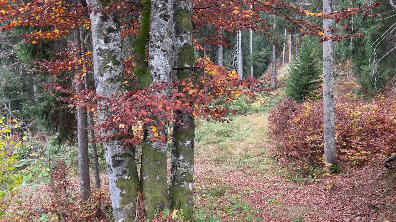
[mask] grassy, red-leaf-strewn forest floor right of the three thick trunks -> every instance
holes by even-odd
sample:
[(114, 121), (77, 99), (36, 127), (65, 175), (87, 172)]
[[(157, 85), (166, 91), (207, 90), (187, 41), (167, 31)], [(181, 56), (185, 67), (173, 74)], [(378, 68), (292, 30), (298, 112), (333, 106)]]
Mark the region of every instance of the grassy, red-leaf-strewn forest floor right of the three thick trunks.
[(376, 166), (318, 179), (292, 176), (293, 167), (281, 163), (268, 137), (267, 113), (235, 117), (231, 123), (202, 121), (196, 134), (197, 216), (215, 215), (220, 221), (396, 221), (396, 202), (386, 198), (394, 196), (386, 186), (392, 177), (378, 179)]

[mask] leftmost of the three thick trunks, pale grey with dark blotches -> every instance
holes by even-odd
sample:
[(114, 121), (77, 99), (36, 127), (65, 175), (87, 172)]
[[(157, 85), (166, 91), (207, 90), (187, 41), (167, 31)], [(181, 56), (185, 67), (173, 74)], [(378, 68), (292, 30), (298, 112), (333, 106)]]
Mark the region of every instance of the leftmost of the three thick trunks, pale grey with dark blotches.
[[(95, 9), (102, 11), (108, 2), (89, 0)], [(120, 23), (112, 13), (90, 13), (93, 46), (93, 70), (96, 92), (99, 96), (112, 96), (121, 87), (124, 69), (122, 66), (122, 49)], [(109, 119), (111, 112), (106, 101), (98, 102), (99, 123)], [(101, 131), (102, 137), (112, 136), (117, 129)], [(133, 149), (120, 147), (119, 139), (107, 139), (104, 143), (109, 176), (109, 190), (114, 220), (133, 221), (136, 213), (139, 177)]]

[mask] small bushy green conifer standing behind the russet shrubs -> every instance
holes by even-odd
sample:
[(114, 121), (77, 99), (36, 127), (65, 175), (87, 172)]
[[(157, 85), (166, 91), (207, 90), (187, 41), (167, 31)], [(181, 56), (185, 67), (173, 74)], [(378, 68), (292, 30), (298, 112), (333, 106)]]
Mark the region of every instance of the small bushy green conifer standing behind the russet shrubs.
[(321, 66), (312, 44), (307, 43), (301, 49), (289, 67), (286, 79), (286, 95), (297, 102), (303, 102), (311, 92), (318, 88)]

